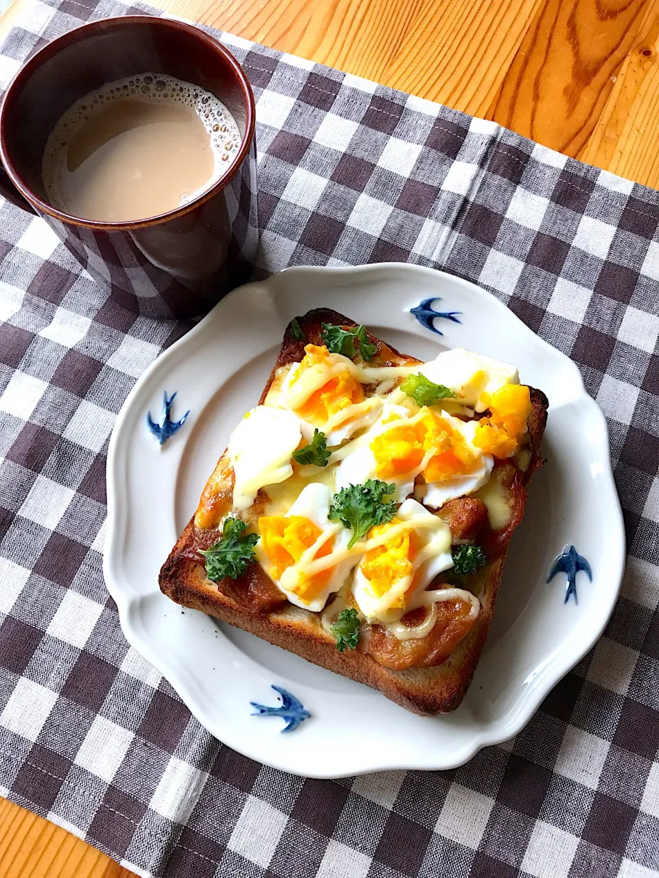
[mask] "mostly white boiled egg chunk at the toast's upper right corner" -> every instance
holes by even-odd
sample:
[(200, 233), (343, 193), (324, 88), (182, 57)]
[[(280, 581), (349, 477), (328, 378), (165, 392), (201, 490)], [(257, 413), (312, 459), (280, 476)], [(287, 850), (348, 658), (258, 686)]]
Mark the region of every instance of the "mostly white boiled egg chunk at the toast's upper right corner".
[(449, 387), (461, 403), (477, 412), (488, 407), (485, 394), (491, 396), (504, 385), (519, 384), (515, 366), (464, 348), (444, 350), (418, 371), (435, 384)]

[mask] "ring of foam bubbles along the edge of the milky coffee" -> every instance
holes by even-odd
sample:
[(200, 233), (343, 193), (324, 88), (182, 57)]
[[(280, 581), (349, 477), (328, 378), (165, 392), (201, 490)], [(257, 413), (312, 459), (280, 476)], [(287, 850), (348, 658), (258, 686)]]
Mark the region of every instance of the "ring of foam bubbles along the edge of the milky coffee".
[(47, 198), (52, 205), (66, 210), (60, 191), (58, 169), (72, 135), (84, 122), (93, 119), (108, 105), (127, 98), (142, 100), (148, 104), (182, 104), (190, 107), (206, 128), (214, 155), (214, 173), (201, 188), (183, 196), (181, 205), (207, 191), (234, 162), (242, 141), (241, 133), (227, 107), (214, 94), (192, 83), (185, 83), (175, 76), (156, 73), (126, 76), (106, 83), (76, 101), (48, 136), (42, 160), (42, 177)]

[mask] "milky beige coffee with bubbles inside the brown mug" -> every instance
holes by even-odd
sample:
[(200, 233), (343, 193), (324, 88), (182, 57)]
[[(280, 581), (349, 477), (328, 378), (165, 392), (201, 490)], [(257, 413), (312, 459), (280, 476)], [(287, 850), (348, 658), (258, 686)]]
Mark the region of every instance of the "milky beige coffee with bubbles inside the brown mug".
[(47, 140), (43, 184), (50, 204), (73, 216), (146, 219), (208, 189), (240, 141), (208, 91), (173, 76), (127, 76), (64, 113)]

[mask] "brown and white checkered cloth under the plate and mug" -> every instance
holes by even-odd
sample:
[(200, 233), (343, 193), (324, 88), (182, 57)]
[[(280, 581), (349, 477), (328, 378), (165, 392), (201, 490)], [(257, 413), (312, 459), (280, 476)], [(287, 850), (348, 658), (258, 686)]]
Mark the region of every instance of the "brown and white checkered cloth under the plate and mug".
[[(5, 83), (101, 0), (25, 0)], [(101, 572), (105, 450), (185, 326), (104, 298), (0, 208), (0, 792), (144, 875), (659, 873), (659, 193), (225, 34), (257, 96), (257, 276), (402, 260), (493, 291), (604, 409), (629, 558), (605, 636), (517, 738), (451, 772), (310, 781), (245, 759), (130, 649)], [(413, 746), (413, 742), (405, 745)]]

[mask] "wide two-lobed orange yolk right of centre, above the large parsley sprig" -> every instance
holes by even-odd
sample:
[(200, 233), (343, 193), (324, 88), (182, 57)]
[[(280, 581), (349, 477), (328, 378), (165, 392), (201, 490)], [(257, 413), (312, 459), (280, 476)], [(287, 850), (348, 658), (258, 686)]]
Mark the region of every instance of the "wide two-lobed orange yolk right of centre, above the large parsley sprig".
[(378, 478), (392, 479), (415, 471), (424, 459), (426, 482), (445, 481), (474, 471), (478, 457), (460, 431), (429, 408), (419, 414), (412, 423), (403, 421), (373, 439), (371, 450)]

